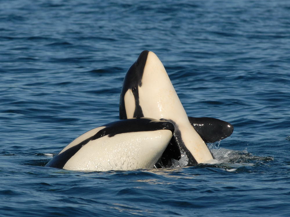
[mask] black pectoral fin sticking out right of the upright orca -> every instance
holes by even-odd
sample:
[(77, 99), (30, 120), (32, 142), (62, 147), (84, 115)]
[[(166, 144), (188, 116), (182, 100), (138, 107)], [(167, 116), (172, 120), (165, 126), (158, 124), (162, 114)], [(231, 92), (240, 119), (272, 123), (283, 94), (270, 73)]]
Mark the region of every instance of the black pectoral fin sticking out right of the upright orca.
[(212, 143), (229, 137), (233, 125), (213, 117), (188, 117), (189, 122), (206, 143)]

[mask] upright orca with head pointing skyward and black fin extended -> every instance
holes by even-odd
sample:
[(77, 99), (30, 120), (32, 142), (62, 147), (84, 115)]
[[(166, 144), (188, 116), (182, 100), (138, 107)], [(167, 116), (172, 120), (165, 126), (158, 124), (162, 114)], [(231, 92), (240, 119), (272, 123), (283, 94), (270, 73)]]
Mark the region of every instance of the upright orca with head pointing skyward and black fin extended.
[(175, 132), (161, 158), (168, 167), (171, 159), (179, 160), (181, 155), (188, 158), (187, 165), (211, 161), (213, 155), (205, 142), (224, 139), (233, 132), (228, 122), (188, 117), (162, 62), (148, 50), (139, 55), (123, 81), (119, 118), (133, 117), (151, 117), (174, 124)]

